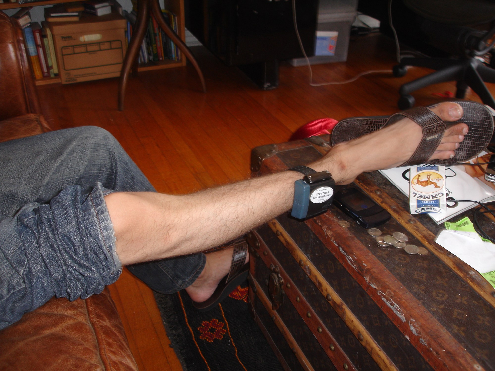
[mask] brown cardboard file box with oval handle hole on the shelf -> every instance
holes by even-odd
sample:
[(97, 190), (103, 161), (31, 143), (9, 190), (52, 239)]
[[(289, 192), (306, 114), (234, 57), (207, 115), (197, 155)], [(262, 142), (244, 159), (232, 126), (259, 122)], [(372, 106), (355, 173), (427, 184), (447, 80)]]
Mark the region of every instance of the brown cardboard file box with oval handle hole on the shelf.
[(83, 13), (79, 21), (49, 22), (62, 84), (120, 76), (126, 25), (115, 13)]

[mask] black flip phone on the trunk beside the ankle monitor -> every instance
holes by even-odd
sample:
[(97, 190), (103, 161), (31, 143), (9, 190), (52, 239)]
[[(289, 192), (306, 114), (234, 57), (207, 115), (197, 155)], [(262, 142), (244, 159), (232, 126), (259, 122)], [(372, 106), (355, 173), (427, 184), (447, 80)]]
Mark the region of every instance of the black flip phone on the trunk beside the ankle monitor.
[(391, 218), (387, 210), (354, 187), (337, 191), (334, 196), (334, 205), (364, 228), (379, 226)]

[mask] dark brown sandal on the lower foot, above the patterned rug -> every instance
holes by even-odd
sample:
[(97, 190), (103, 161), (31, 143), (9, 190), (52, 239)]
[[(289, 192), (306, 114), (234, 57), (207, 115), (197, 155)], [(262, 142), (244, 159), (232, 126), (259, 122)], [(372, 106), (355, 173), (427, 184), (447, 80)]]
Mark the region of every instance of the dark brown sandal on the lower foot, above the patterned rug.
[(244, 264), (247, 256), (246, 239), (238, 239), (226, 248), (231, 246), (234, 246), (234, 252), (232, 253), (232, 262), (230, 264), (229, 274), (220, 280), (217, 288), (208, 299), (200, 303), (193, 301), (193, 306), (201, 312), (209, 311), (215, 308), (218, 303), (225, 299), (247, 278), (249, 263)]

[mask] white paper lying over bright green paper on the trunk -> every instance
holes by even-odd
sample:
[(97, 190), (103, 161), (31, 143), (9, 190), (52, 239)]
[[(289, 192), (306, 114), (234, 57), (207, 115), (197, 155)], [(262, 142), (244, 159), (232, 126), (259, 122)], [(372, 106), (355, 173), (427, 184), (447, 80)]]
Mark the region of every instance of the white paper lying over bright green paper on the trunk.
[(478, 272), (495, 270), (495, 245), (478, 233), (443, 230), (436, 242)]

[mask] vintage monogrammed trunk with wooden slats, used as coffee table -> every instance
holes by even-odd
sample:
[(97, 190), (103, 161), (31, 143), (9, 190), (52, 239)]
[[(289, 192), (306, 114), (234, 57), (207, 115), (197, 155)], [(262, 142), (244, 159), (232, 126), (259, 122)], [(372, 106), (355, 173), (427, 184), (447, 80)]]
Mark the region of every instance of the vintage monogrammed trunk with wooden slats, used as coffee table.
[[(255, 148), (252, 174), (308, 164), (330, 149), (328, 139)], [(306, 222), (281, 215), (250, 232), (250, 309), (284, 368), (495, 370), (492, 286), (437, 245), (442, 226), (410, 215), (406, 197), (378, 172), (355, 183), (392, 214), (379, 227), (384, 235), (402, 232), (429, 254), (378, 247), (335, 207)]]

